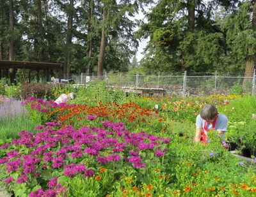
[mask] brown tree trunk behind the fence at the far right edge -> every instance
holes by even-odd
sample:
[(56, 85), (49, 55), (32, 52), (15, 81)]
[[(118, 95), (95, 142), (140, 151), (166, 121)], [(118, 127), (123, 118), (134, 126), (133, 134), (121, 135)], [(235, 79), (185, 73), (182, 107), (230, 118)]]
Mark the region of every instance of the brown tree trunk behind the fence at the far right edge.
[[(252, 29), (256, 31), (256, 0), (253, 1), (253, 11), (252, 11)], [(253, 70), (255, 68), (255, 57), (253, 55), (248, 55), (246, 57), (246, 67), (244, 77), (252, 77)], [(251, 78), (244, 78), (243, 89), (246, 90), (252, 84)]]

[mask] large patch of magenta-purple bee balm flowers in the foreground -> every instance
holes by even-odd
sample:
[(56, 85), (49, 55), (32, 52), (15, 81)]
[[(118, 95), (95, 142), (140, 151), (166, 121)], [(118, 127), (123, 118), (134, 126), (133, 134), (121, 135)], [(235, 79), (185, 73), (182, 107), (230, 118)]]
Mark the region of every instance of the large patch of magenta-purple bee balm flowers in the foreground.
[[(43, 102), (43, 101), (42, 101)], [(104, 128), (74, 129), (72, 126), (56, 129), (55, 122), (47, 122), (39, 133), (22, 131), (20, 138), (13, 140), (10, 145), (5, 144), (1, 149), (6, 149), (6, 156), (0, 158), (0, 164), (5, 164), (8, 173), (19, 170), (20, 176), (15, 182), (21, 184), (28, 182), (28, 177), (39, 177), (37, 169), (52, 171), (58, 168), (63, 174), (72, 177), (77, 173), (83, 173), (84, 177), (92, 177), (94, 171), (86, 169), (82, 161), (90, 156), (96, 164), (116, 163), (126, 161), (134, 168), (145, 168), (143, 151), (154, 151), (156, 157), (163, 157), (166, 149), (161, 150), (164, 143), (170, 139), (148, 135), (145, 132), (131, 133), (125, 131), (124, 123), (104, 122)], [(20, 149), (26, 149), (19, 151)], [(10, 149), (10, 150), (9, 150)], [(70, 163), (70, 158), (76, 158)], [(90, 167), (90, 166), (89, 166)], [(53, 168), (53, 169), (52, 169)], [(12, 182), (9, 177), (4, 182)], [(65, 191), (57, 184), (57, 178), (49, 180), (51, 189), (38, 189), (29, 196), (56, 196)]]

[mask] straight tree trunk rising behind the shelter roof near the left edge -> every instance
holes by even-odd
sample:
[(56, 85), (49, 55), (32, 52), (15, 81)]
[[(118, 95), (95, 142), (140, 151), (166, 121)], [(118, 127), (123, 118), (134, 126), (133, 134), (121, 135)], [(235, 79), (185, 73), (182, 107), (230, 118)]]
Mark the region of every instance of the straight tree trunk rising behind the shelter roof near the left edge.
[[(13, 38), (13, 29), (14, 29), (14, 15), (13, 15), (13, 0), (9, 0), (9, 28), (10, 28), (10, 38), (9, 38), (9, 60), (14, 60), (14, 38)], [(10, 70), (10, 81), (11, 84), (15, 84), (15, 69), (11, 68)]]

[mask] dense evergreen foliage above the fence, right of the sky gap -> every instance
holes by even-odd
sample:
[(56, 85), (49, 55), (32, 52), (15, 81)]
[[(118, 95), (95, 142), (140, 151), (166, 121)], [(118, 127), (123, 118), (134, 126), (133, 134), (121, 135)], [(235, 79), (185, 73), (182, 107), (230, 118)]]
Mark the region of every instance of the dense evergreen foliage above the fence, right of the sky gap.
[[(186, 1), (159, 1), (139, 31), (150, 38), (141, 65), (154, 71), (244, 71), (254, 58), (251, 1), (195, 1), (195, 28), (189, 28)], [(218, 10), (214, 7), (217, 6)], [(220, 9), (219, 9), (220, 8)], [(214, 18), (214, 19), (213, 19)], [(253, 59), (254, 61), (254, 59)]]

